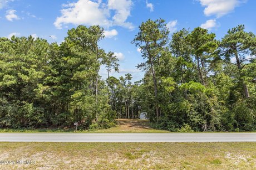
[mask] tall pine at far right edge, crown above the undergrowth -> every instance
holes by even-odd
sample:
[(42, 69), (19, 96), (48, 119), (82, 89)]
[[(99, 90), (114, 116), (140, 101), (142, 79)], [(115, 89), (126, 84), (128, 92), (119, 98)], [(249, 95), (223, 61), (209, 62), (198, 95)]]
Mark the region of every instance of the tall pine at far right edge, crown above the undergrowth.
[[(231, 58), (235, 58), (235, 63), (237, 67), (238, 74), (235, 75), (239, 80), (240, 89), (243, 89), (243, 94), (248, 98), (248, 80), (253, 78), (248, 74), (247, 66), (255, 69), (254, 64), (248, 64), (248, 61), (255, 60), (256, 54), (256, 36), (252, 32), (245, 32), (244, 25), (238, 25), (228, 30), (228, 34), (224, 36), (220, 43), (221, 52), (219, 55), (223, 56), (225, 62), (229, 62)], [(253, 56), (254, 55), (254, 56)], [(254, 73), (255, 76), (255, 73)]]

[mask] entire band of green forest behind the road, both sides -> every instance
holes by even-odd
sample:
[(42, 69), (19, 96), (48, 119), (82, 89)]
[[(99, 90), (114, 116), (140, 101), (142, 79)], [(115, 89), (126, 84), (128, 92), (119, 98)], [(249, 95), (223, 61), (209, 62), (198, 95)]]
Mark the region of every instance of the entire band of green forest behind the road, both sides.
[(0, 127), (109, 128), (147, 112), (169, 131), (255, 131), (256, 37), (244, 29), (217, 40), (200, 27), (170, 35), (165, 20), (149, 19), (131, 42), (145, 61), (135, 83), (110, 76), (119, 60), (99, 47), (99, 26), (70, 29), (61, 44), (0, 38)]

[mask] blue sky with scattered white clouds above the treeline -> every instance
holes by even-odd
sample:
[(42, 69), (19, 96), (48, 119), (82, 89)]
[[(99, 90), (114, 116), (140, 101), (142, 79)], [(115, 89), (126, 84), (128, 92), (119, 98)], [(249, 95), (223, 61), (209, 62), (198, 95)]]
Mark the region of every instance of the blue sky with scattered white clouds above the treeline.
[[(61, 43), (68, 29), (99, 24), (106, 35), (100, 47), (120, 59), (120, 73), (111, 75), (131, 73), (137, 81), (144, 73), (136, 65), (143, 60), (130, 42), (141, 22), (163, 18), (171, 33), (203, 27), (221, 39), (238, 24), (255, 34), (255, 7), (255, 0), (0, 0), (0, 37), (33, 35)], [(106, 78), (105, 68), (100, 74)]]

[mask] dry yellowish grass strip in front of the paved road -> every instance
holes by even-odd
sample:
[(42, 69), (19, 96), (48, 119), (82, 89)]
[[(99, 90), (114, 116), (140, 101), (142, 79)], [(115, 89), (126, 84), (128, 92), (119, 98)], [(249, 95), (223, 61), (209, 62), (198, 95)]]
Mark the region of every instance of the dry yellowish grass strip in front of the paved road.
[(0, 158), (36, 161), (0, 169), (255, 169), (256, 142), (0, 142)]

